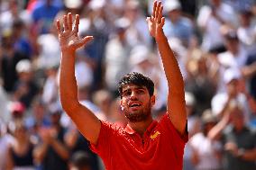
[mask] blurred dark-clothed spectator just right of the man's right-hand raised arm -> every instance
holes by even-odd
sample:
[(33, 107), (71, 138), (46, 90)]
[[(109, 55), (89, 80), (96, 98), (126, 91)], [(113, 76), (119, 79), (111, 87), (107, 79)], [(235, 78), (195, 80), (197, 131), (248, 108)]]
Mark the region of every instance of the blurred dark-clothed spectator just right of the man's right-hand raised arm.
[(195, 108), (199, 115), (211, 107), (211, 100), (216, 93), (218, 76), (211, 67), (213, 62), (201, 50), (194, 51), (187, 58), (187, 79), (185, 89), (195, 95)]

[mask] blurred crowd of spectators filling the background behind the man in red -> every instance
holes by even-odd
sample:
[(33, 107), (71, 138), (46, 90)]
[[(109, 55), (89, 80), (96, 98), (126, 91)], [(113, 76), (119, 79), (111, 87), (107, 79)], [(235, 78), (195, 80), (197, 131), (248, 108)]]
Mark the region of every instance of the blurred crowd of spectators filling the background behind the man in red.
[[(184, 170), (255, 170), (256, 1), (162, 2), (185, 81)], [(155, 82), (154, 118), (166, 112), (168, 87), (145, 21), (152, 3), (0, 1), (0, 170), (104, 169), (59, 103), (55, 21), (64, 13), (80, 14), (79, 36), (94, 36), (77, 51), (81, 103), (124, 127), (116, 85), (136, 71)]]

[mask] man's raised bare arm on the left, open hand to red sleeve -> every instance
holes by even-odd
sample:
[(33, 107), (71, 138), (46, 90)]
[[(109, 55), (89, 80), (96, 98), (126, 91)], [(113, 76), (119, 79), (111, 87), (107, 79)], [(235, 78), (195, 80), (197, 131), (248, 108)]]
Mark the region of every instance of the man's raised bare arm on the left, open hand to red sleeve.
[[(96, 144), (101, 123), (95, 114), (78, 102), (78, 85), (75, 77), (76, 49), (84, 46), (92, 36), (78, 38), (79, 15), (76, 15), (74, 27), (72, 14), (63, 16), (64, 31), (61, 31), (60, 22), (57, 21), (59, 44), (61, 48), (59, 95), (65, 112), (77, 125), (78, 130), (93, 144)], [(87, 75), (85, 75), (87, 76)]]

